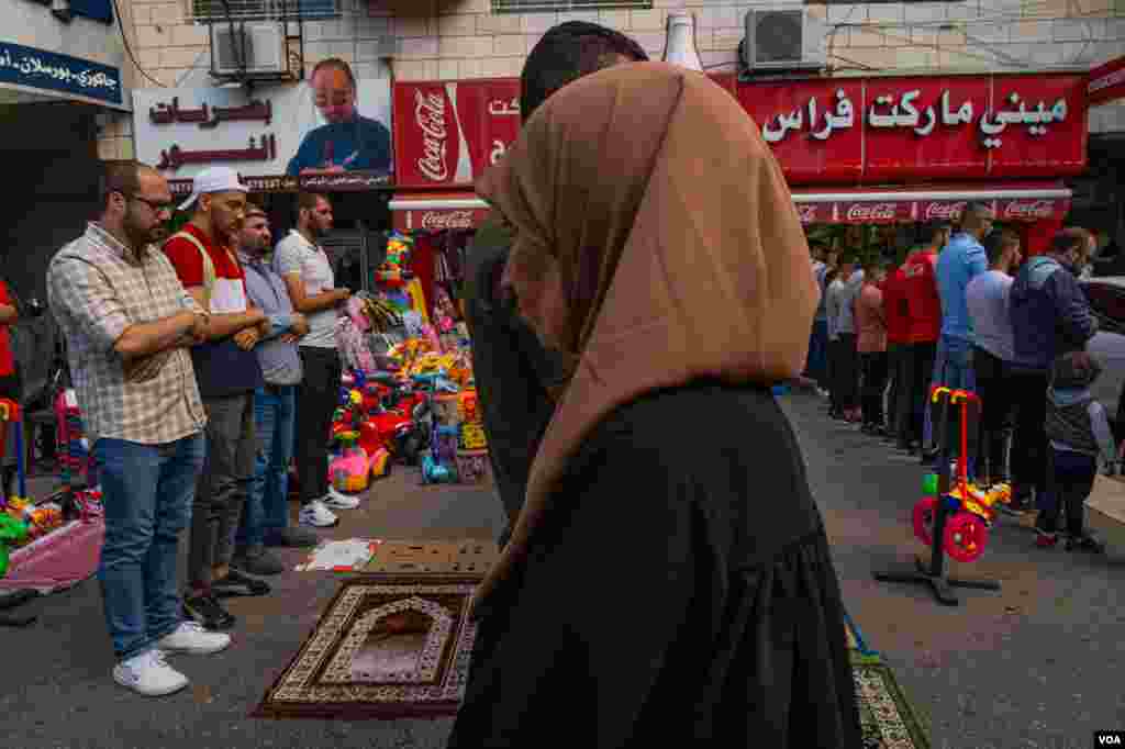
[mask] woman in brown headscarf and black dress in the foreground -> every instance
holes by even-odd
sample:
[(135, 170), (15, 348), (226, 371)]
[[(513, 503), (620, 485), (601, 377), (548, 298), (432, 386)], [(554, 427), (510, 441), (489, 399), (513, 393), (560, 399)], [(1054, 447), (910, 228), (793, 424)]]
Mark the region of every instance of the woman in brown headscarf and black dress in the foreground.
[(757, 127), (706, 76), (554, 94), (478, 184), (569, 361), (450, 747), (860, 747), (840, 594), (770, 385), (818, 289)]

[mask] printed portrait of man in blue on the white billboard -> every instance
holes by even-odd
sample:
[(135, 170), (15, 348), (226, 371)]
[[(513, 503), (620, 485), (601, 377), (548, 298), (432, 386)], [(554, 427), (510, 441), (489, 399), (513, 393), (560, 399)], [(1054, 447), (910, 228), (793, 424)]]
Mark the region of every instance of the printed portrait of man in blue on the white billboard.
[(324, 60), (309, 76), (313, 103), (325, 125), (309, 130), (286, 173), (390, 172), (390, 130), (357, 109), (356, 76), (343, 60)]

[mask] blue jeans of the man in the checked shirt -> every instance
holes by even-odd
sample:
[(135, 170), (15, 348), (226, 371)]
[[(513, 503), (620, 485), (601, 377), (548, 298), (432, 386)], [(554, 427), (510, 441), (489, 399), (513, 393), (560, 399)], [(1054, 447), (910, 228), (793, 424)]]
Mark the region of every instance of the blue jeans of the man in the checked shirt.
[(202, 434), (166, 444), (98, 440), (106, 511), (98, 579), (118, 660), (128, 660), (179, 625), (176, 562), (204, 467)]

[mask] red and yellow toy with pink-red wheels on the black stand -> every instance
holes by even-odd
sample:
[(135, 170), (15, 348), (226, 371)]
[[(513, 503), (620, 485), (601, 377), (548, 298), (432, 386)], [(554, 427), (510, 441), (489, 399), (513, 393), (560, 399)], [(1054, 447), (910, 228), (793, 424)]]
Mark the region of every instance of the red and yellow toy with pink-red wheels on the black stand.
[[(937, 388), (937, 398), (948, 388)], [(1011, 502), (1011, 487), (998, 484), (992, 487), (981, 487), (969, 481), (969, 419), (968, 404), (970, 400), (980, 403), (974, 394), (964, 390), (953, 391), (951, 405), (962, 404), (961, 418), (961, 453), (957, 457), (955, 484), (945, 495), (946, 509), (950, 520), (943, 531), (942, 545), (952, 559), (971, 562), (980, 559), (988, 545), (989, 529), (996, 522), (997, 504)], [(937, 477), (933, 473), (922, 481), (924, 490), (930, 495), (922, 497), (914, 508), (914, 531), (919, 541), (930, 545), (934, 541), (934, 525), (937, 516)]]

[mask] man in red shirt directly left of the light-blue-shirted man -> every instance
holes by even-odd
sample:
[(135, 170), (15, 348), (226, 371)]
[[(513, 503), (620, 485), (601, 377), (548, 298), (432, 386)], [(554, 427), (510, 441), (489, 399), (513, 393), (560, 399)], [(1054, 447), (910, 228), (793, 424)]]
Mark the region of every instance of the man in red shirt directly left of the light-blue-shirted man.
[(902, 265), (902, 291), (906, 297), (907, 362), (904, 388), (900, 390), (900, 444), (910, 454), (921, 444), (922, 426), (929, 396), (929, 381), (937, 358), (937, 340), (942, 335), (942, 299), (937, 294), (937, 253), (950, 242), (952, 227), (947, 222), (932, 224), (929, 245), (914, 252)]

